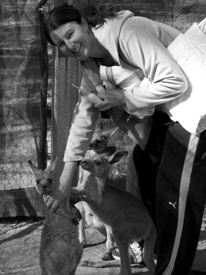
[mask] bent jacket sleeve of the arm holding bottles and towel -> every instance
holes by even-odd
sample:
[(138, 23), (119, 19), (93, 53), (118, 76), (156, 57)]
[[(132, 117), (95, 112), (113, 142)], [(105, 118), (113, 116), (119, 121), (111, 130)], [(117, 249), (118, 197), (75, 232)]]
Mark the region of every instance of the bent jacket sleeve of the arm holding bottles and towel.
[(154, 106), (178, 97), (187, 90), (187, 80), (167, 48), (142, 26), (128, 26), (119, 37), (127, 62), (143, 70), (149, 82), (125, 91), (128, 112), (154, 110)]

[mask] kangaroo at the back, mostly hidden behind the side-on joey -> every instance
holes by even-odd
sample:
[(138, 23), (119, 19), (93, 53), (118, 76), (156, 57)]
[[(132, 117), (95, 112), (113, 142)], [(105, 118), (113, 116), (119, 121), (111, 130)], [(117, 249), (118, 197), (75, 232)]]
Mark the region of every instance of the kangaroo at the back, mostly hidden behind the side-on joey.
[[(115, 127), (109, 130), (103, 130), (103, 126), (103, 120), (99, 119), (97, 121), (89, 149), (85, 154), (85, 158), (90, 158), (94, 154), (101, 154), (102, 150), (107, 147), (110, 136), (113, 135), (118, 129), (118, 127)], [(85, 184), (89, 181), (90, 175), (91, 173), (89, 171), (82, 169), (80, 166), (78, 185)], [(109, 260), (109, 255), (114, 249), (114, 242), (110, 232), (107, 230), (107, 226), (105, 226), (105, 224), (96, 215), (94, 215), (87, 203), (81, 201), (77, 203), (77, 208), (82, 214), (82, 220), (79, 224), (79, 240), (82, 245), (87, 245), (84, 224), (87, 223), (89, 226), (93, 225), (104, 237), (107, 238), (107, 250), (104, 252), (102, 259), (103, 261)]]

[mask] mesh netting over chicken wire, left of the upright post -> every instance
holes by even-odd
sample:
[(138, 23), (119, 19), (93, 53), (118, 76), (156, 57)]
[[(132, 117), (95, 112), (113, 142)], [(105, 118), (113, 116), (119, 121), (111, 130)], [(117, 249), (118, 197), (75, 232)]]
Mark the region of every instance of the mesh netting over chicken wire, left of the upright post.
[(35, 161), (39, 168), (46, 167), (48, 58), (42, 28), (44, 15), (39, 12), (45, 2), (2, 0), (0, 4), (0, 190), (3, 203), (0, 215), (3, 216), (17, 214), (6, 207), (7, 201), (17, 196), (19, 190), (15, 192), (15, 189), (27, 188), (28, 191), (34, 186), (28, 173), (28, 159)]

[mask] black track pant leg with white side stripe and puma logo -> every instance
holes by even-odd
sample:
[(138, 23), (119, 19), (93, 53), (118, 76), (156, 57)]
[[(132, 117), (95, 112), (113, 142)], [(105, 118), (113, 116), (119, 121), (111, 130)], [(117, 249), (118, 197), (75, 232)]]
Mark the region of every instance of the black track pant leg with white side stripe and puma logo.
[(206, 196), (206, 131), (180, 123), (167, 131), (156, 182), (155, 275), (188, 275), (199, 241)]

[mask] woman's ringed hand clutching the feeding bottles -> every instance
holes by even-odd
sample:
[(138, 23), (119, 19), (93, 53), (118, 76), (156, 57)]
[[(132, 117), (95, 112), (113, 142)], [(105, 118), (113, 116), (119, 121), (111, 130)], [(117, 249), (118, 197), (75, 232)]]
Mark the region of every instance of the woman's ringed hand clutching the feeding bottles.
[(99, 98), (104, 99), (101, 103), (94, 106), (101, 111), (107, 111), (112, 107), (122, 106), (125, 104), (124, 90), (117, 87), (116, 89), (106, 89), (106, 94), (98, 94)]

